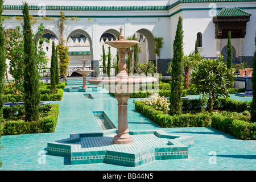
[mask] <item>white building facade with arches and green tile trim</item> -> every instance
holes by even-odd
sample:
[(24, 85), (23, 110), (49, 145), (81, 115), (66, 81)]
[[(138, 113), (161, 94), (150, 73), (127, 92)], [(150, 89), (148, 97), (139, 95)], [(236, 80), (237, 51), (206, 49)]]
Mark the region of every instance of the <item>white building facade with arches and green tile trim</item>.
[[(70, 18), (65, 20), (64, 28), (64, 40), (69, 47), (71, 57), (69, 76), (76, 68), (82, 66), (79, 60), (84, 57), (90, 60), (86, 67), (96, 71), (93, 76), (101, 75), (102, 44), (109, 39), (117, 39), (120, 27), (123, 27), (126, 38), (129, 36), (138, 38), (143, 49), (139, 55), (140, 62), (146, 63), (152, 60), (158, 72), (168, 75), (166, 69), (172, 60), (172, 44), (179, 16), (183, 18), (185, 55), (195, 50), (197, 39), (200, 41), (201, 55), (205, 57), (225, 55), (228, 30), (236, 34), (232, 38), (233, 62), (245, 60), (251, 64), (255, 51), (255, 0), (27, 0), (27, 3), (30, 14), (38, 18), (32, 24), (34, 34), (36, 35), (40, 23), (43, 23), (44, 33), (51, 41), (55, 40), (55, 44), (59, 43), (60, 38), (60, 30), (57, 26), (60, 12)], [(3, 26), (6, 30), (14, 29), (16, 26), (22, 28), (22, 20), (16, 18), (22, 16), (22, 9), (22, 1), (4, 2), (3, 16), (10, 17), (4, 19)], [(154, 37), (163, 37), (160, 59), (154, 53)], [(44, 45), (44, 51), (50, 58), (51, 43)], [(105, 52), (108, 53), (106, 44)], [(111, 48), (111, 52), (114, 56), (117, 51)]]

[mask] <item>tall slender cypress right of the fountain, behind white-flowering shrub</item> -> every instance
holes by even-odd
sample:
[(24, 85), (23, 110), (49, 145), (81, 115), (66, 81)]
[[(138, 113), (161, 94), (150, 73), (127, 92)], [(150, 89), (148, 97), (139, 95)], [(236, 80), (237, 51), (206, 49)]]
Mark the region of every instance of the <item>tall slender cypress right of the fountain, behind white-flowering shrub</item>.
[(171, 94), (170, 103), (171, 110), (170, 114), (181, 114), (181, 77), (182, 75), (182, 59), (183, 59), (183, 30), (182, 30), (182, 18), (179, 16), (179, 22), (177, 24), (176, 35), (173, 44), (174, 57), (172, 59), (172, 71), (171, 71)]

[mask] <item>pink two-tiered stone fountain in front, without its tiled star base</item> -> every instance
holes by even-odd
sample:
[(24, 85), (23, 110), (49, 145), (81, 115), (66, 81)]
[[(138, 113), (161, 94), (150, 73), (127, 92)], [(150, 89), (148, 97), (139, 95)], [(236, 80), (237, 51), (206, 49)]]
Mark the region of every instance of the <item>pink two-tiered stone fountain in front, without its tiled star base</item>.
[(139, 43), (137, 40), (123, 40), (123, 28), (120, 28), (119, 40), (108, 41), (105, 44), (117, 48), (118, 74), (116, 77), (91, 78), (88, 82), (92, 85), (101, 85), (111, 93), (115, 93), (118, 101), (118, 129), (117, 135), (113, 138), (114, 144), (133, 143), (129, 134), (127, 119), (127, 101), (130, 93), (138, 91), (142, 84), (156, 82), (154, 77), (129, 77), (126, 72), (126, 49)]

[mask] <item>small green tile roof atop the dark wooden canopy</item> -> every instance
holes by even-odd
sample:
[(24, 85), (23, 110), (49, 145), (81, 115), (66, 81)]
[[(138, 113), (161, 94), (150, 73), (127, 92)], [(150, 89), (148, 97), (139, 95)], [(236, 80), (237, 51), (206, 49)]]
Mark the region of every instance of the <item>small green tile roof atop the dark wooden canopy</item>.
[(246, 11), (243, 11), (239, 9), (238, 7), (234, 8), (223, 8), (220, 10), (220, 12), (217, 14), (217, 16), (250, 16), (250, 13), (247, 13)]

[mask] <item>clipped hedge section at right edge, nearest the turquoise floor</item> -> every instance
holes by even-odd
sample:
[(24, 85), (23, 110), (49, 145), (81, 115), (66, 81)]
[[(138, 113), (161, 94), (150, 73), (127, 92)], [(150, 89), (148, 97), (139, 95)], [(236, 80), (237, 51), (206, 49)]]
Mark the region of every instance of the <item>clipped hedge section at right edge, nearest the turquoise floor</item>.
[(232, 135), (238, 139), (256, 139), (256, 123), (246, 122), (214, 113), (212, 115), (211, 126), (214, 129), (223, 131), (224, 133)]

